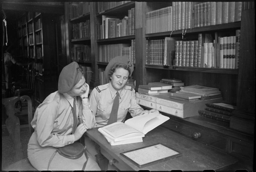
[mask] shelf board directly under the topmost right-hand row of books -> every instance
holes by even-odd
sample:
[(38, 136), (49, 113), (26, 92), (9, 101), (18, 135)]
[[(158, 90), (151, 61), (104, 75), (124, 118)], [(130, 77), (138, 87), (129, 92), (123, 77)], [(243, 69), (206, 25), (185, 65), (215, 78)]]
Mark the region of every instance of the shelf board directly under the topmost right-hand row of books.
[(219, 30), (228, 30), (230, 28), (240, 28), (241, 21), (232, 22), (232, 23), (224, 23), (224, 24), (217, 24), (217, 25), (210, 25), (210, 26), (203, 26), (203, 27), (194, 27), (184, 30), (174, 30), (174, 31), (166, 31), (166, 32), (158, 32), (158, 33), (147, 33), (145, 37), (155, 37), (155, 36), (170, 36), (170, 35), (179, 35), (185, 32), (185, 34), (189, 33), (200, 33), (200, 32), (212, 32), (212, 31), (219, 31)]

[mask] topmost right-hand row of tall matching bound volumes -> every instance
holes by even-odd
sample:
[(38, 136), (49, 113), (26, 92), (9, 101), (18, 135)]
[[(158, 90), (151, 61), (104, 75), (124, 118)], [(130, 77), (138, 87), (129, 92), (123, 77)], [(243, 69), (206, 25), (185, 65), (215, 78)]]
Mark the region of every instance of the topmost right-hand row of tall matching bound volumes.
[(242, 2), (172, 2), (146, 13), (146, 33), (241, 21)]

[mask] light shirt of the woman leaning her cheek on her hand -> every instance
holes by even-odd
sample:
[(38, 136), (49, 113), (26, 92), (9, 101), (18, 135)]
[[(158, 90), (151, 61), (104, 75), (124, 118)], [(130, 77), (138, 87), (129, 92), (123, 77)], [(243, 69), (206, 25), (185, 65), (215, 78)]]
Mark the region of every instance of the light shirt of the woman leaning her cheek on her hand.
[[(50, 94), (35, 111), (31, 122), (37, 132), (37, 141), (40, 146), (63, 147), (74, 143), (73, 127), (73, 97), (58, 91)], [(88, 103), (76, 100), (76, 116), (79, 124), (83, 123), (86, 129), (95, 127), (95, 117)]]

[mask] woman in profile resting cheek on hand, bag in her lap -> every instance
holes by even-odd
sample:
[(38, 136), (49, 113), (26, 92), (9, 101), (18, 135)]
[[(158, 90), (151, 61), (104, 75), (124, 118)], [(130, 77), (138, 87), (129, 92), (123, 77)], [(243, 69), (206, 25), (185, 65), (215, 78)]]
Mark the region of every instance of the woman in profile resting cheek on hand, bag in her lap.
[[(59, 76), (58, 91), (38, 106), (31, 122), (35, 131), (28, 143), (28, 159), (37, 170), (47, 170), (49, 160), (58, 148), (74, 143), (87, 129), (95, 127), (88, 93), (89, 86), (78, 64), (66, 65)], [(88, 157), (85, 170), (100, 170), (90, 154)], [(56, 153), (49, 170), (81, 170), (85, 161), (85, 155), (69, 159)]]

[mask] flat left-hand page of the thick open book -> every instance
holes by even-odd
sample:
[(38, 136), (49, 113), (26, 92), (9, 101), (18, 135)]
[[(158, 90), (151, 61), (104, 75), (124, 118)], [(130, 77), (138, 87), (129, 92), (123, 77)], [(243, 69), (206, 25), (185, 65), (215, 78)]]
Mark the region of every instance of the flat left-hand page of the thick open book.
[(102, 127), (101, 129), (113, 136), (114, 138), (122, 137), (131, 133), (140, 133), (136, 129), (130, 127), (129, 125), (125, 125), (122, 122), (115, 122), (113, 124)]

